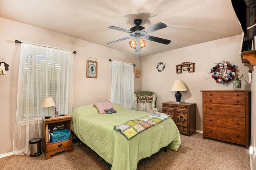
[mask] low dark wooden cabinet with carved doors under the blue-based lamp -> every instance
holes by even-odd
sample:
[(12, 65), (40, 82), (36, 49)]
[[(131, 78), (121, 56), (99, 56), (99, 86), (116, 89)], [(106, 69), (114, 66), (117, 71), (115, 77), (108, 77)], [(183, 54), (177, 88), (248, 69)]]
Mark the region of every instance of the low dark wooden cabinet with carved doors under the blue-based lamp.
[(164, 102), (162, 103), (164, 113), (170, 115), (178, 127), (180, 134), (190, 136), (196, 131), (196, 104)]

